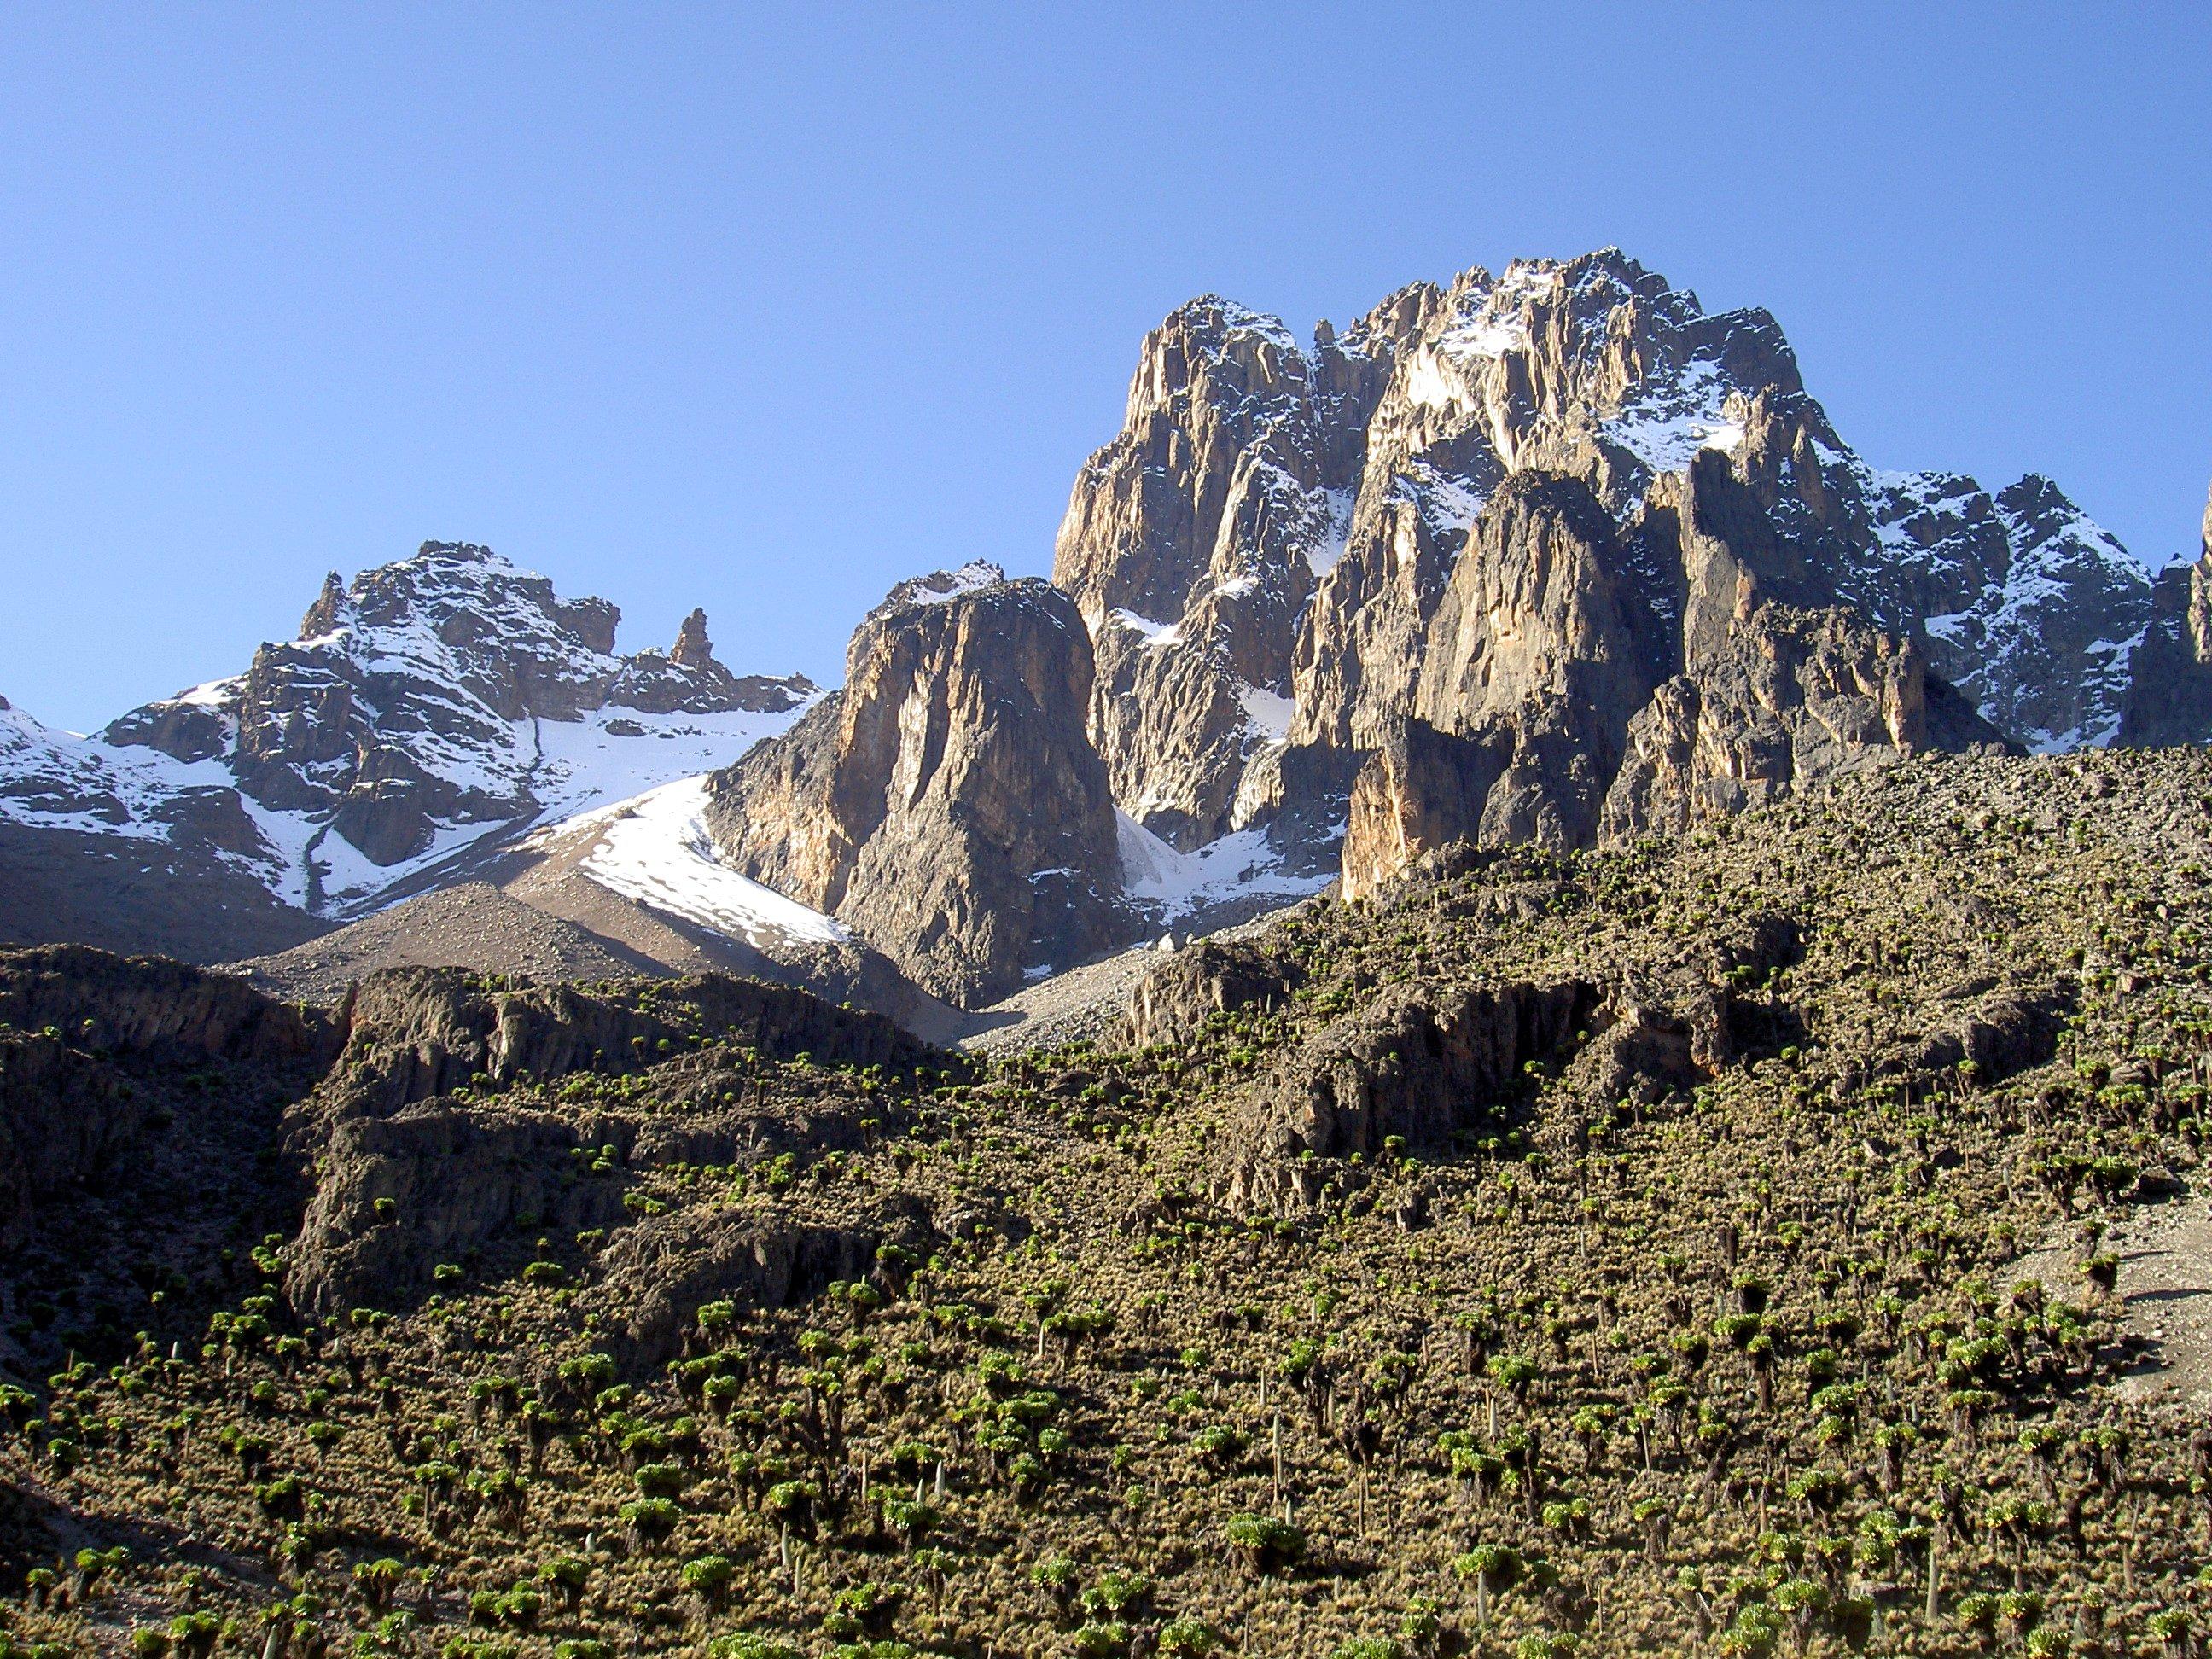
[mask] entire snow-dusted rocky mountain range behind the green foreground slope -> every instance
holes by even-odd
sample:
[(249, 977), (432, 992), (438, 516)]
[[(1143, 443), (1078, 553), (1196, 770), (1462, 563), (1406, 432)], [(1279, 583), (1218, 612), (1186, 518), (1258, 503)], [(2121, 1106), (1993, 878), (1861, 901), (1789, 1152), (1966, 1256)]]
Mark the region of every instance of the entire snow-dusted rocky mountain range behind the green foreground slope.
[(71, 894), (122, 852), (150, 942), (219, 958), (458, 880), (540, 902), (487, 860), (577, 825), (580, 880), (692, 936), (872, 951), (894, 1000), (973, 1006), (1458, 841), (1679, 836), (1931, 750), (2205, 741), (2208, 560), (2152, 582), (2039, 476), (1869, 467), (1770, 314), (1617, 250), (1310, 343), (1208, 296), (1144, 341), (1051, 584), (900, 584), (841, 692), (732, 675), (701, 615), (622, 657), (611, 604), (425, 544), (97, 741), (0, 710), (0, 872), (18, 938), (91, 938)]

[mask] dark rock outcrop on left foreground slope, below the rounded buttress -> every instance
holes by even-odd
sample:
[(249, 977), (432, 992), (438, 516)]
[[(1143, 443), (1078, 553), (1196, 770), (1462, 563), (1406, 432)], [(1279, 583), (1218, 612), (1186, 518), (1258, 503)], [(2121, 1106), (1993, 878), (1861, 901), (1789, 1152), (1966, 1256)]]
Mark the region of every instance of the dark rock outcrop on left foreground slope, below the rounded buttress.
[[(878, 1015), (719, 975), (593, 993), (389, 969), (341, 1018), (345, 1051), (288, 1135), (316, 1168), (292, 1294), (323, 1314), (420, 1294), (440, 1263), (511, 1245), (520, 1230), (604, 1228), (624, 1217), (626, 1166), (858, 1144), (858, 1110), (734, 1106), (759, 1093), (761, 1064), (898, 1073), (931, 1053)], [(586, 1091), (575, 1106), (544, 1091), (646, 1068), (659, 1079), (655, 1115), (619, 1110), (619, 1091)]]

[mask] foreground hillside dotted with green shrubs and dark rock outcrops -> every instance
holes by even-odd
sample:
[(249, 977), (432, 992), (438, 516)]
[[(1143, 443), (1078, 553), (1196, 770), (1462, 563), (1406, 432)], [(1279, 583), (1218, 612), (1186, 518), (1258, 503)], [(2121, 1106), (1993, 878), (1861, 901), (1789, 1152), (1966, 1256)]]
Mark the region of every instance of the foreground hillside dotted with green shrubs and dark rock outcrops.
[(989, 1057), (0, 951), (0, 1641), (2192, 1652), (2208, 801), (1455, 847)]

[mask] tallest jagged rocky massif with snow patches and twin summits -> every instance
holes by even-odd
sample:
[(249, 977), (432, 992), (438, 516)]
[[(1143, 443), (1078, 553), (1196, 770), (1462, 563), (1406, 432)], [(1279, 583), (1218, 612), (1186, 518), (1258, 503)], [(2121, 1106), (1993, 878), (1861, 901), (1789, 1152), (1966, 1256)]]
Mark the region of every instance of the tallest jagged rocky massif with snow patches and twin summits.
[[(1183, 849), (1345, 823), (1352, 889), (1438, 838), (1577, 845), (1918, 748), (2110, 741), (2150, 613), (2048, 480), (1874, 471), (1772, 316), (1615, 250), (1416, 285), (1310, 349), (1186, 305), (1055, 580), (1124, 812)], [(1323, 754), (1298, 772), (1358, 776), (1334, 807), (1283, 785)]]

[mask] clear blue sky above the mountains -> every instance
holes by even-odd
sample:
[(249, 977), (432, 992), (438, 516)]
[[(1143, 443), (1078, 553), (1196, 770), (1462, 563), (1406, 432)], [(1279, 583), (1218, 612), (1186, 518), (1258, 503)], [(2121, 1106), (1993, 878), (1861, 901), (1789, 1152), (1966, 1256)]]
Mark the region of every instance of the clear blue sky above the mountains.
[(2048, 471), (2161, 564), (2205, 15), (13, 4), (0, 692), (100, 723), (425, 538), (834, 679), (896, 577), (1048, 568), (1190, 294), (1604, 243), (1774, 310), (1871, 462)]

